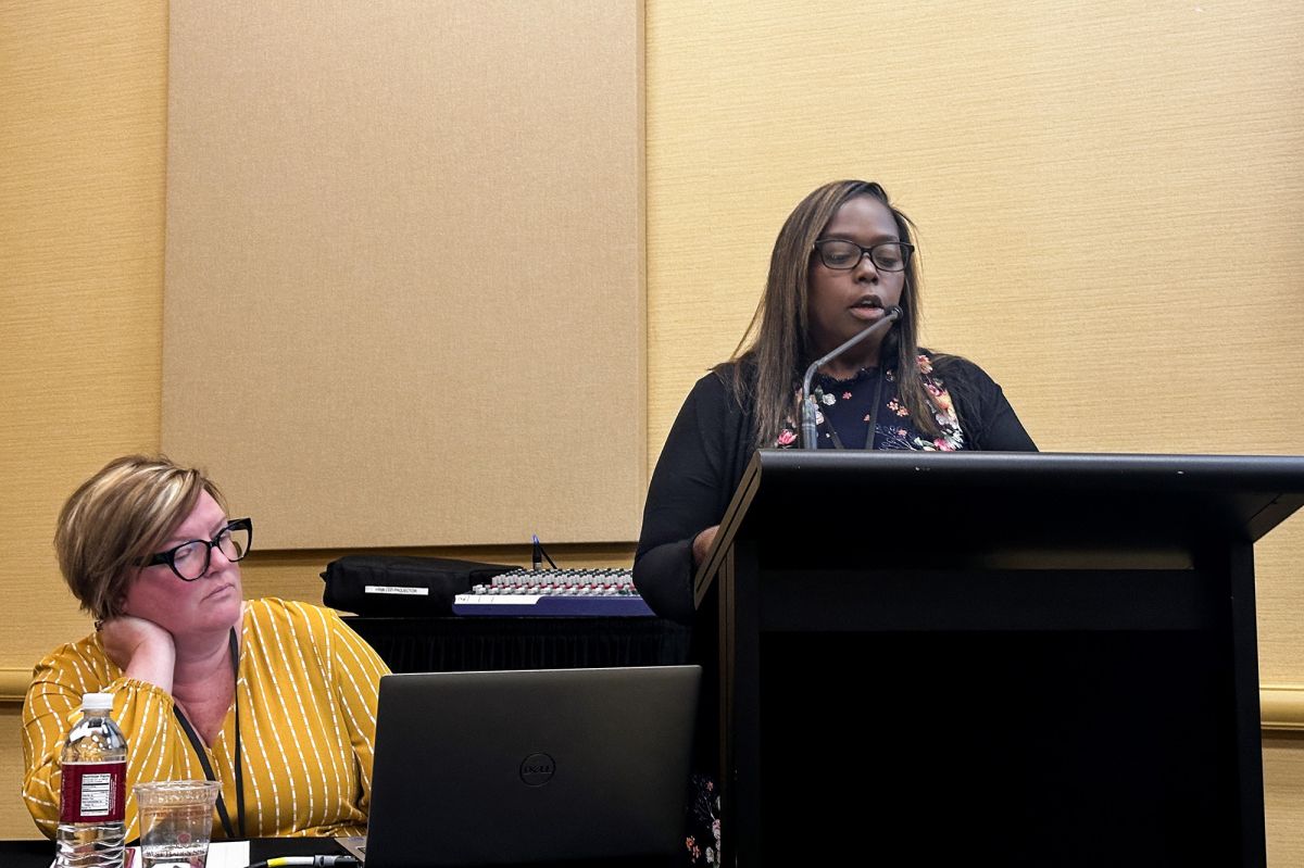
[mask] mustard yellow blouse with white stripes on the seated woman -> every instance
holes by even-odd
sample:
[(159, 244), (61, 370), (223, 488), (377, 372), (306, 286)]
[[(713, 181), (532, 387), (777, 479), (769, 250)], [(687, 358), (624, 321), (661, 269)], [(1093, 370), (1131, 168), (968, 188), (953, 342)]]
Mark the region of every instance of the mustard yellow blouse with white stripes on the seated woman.
[[(245, 605), (236, 702), (244, 837), (364, 834), (372, 796), (376, 696), (389, 669), (330, 609), (265, 598)], [(126, 735), (126, 837), (140, 834), (132, 785), (203, 778), (203, 766), (154, 684), (123, 676), (98, 633), (37, 665), (22, 706), (23, 799), (43, 833), (59, 824), (59, 756), (81, 719), (81, 696), (113, 695)], [(236, 705), (209, 764), (236, 822)], [(236, 826), (239, 834), (239, 825)], [(214, 813), (215, 837), (224, 837)]]

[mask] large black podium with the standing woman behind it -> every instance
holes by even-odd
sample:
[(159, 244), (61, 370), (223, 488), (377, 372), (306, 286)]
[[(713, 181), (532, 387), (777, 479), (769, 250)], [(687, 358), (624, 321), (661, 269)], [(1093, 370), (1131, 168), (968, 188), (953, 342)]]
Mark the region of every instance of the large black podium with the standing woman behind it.
[(698, 573), (726, 863), (1264, 865), (1301, 503), (1301, 457), (758, 452)]

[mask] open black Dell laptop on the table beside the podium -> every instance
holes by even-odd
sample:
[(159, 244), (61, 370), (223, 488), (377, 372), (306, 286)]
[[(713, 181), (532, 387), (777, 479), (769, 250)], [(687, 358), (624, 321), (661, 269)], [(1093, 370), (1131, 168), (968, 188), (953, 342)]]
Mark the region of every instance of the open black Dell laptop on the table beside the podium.
[(381, 679), (366, 868), (683, 850), (700, 666)]

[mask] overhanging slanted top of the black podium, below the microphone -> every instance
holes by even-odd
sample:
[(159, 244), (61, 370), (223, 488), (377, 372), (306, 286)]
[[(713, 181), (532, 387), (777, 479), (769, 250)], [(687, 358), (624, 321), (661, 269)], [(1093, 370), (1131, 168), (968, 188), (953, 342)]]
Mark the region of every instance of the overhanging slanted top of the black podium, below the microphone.
[(1254, 542), (1300, 506), (1304, 456), (759, 450), (716, 549), (1191, 551)]

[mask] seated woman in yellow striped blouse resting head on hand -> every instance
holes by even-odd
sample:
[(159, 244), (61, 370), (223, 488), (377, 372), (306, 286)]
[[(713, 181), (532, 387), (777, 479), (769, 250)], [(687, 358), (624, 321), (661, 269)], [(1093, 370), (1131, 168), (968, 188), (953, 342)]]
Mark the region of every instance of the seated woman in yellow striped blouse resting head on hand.
[(132, 786), (222, 782), (216, 837), (364, 834), (376, 699), (389, 673), (329, 610), (245, 601), (253, 524), (166, 459), (111, 461), (64, 504), (59, 566), (95, 632), (40, 661), (22, 709), (23, 799), (59, 824), (60, 751), (86, 692), (113, 695)]

